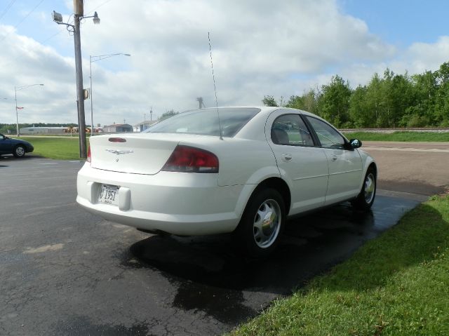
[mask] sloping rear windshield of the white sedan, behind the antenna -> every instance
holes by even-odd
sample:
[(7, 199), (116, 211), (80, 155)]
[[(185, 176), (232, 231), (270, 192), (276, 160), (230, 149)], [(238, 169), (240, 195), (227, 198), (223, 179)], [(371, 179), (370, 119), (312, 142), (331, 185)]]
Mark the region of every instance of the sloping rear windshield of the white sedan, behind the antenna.
[[(260, 109), (226, 107), (218, 109), (223, 137), (233, 137)], [(182, 112), (155, 123), (146, 133), (187, 133), (220, 136), (217, 109), (196, 109)]]

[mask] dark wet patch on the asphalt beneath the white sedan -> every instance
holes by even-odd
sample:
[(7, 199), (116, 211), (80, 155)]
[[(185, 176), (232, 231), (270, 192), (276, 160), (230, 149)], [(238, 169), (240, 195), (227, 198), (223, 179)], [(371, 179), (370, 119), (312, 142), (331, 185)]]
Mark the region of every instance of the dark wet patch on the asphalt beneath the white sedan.
[(396, 224), (416, 204), (378, 196), (369, 213), (340, 205), (298, 217), (288, 223), (279, 248), (266, 260), (246, 260), (236, 251), (231, 235), (150, 236), (130, 246), (121, 264), (161, 271), (177, 287), (173, 307), (204, 311), (235, 325), (261, 309), (260, 304), (254, 307), (247, 302), (244, 292), (289, 295)]

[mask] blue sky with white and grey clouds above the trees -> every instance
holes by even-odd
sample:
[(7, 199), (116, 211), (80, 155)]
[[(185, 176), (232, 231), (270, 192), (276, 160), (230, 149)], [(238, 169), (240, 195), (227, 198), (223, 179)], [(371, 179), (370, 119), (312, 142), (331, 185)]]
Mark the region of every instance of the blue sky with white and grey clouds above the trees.
[[(19, 122), (77, 122), (74, 39), (53, 10), (72, 22), (72, 0), (0, 0), (0, 123), (15, 123), (15, 86), (38, 83), (17, 92)], [(215, 106), (208, 32), (220, 106), (449, 61), (445, 0), (85, 0), (84, 15), (94, 11), (100, 25), (81, 25), (84, 88), (90, 55), (131, 55), (92, 63), (101, 125), (192, 109), (197, 97)]]

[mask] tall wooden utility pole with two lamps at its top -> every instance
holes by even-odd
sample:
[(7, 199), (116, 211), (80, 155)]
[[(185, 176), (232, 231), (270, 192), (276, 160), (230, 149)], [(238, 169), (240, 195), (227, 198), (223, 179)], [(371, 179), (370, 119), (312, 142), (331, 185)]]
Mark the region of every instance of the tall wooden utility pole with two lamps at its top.
[(98, 25), (100, 18), (98, 18), (97, 12), (91, 16), (84, 16), (84, 1), (74, 0), (74, 24), (62, 22), (62, 15), (53, 11), (53, 21), (58, 25), (67, 26), (67, 30), (72, 28), (75, 44), (75, 69), (76, 69), (76, 102), (78, 110), (78, 128), (79, 128), (79, 156), (82, 159), (87, 157), (86, 148), (86, 120), (84, 116), (84, 89), (83, 89), (83, 66), (81, 63), (81, 34), (80, 34), (80, 22), (86, 18), (93, 18), (93, 23)]

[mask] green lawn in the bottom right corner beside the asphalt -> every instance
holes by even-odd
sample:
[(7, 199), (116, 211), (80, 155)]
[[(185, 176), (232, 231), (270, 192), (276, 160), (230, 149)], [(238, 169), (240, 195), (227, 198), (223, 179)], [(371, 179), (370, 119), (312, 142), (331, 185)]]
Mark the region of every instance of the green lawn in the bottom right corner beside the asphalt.
[(449, 335), (449, 196), (231, 334)]

